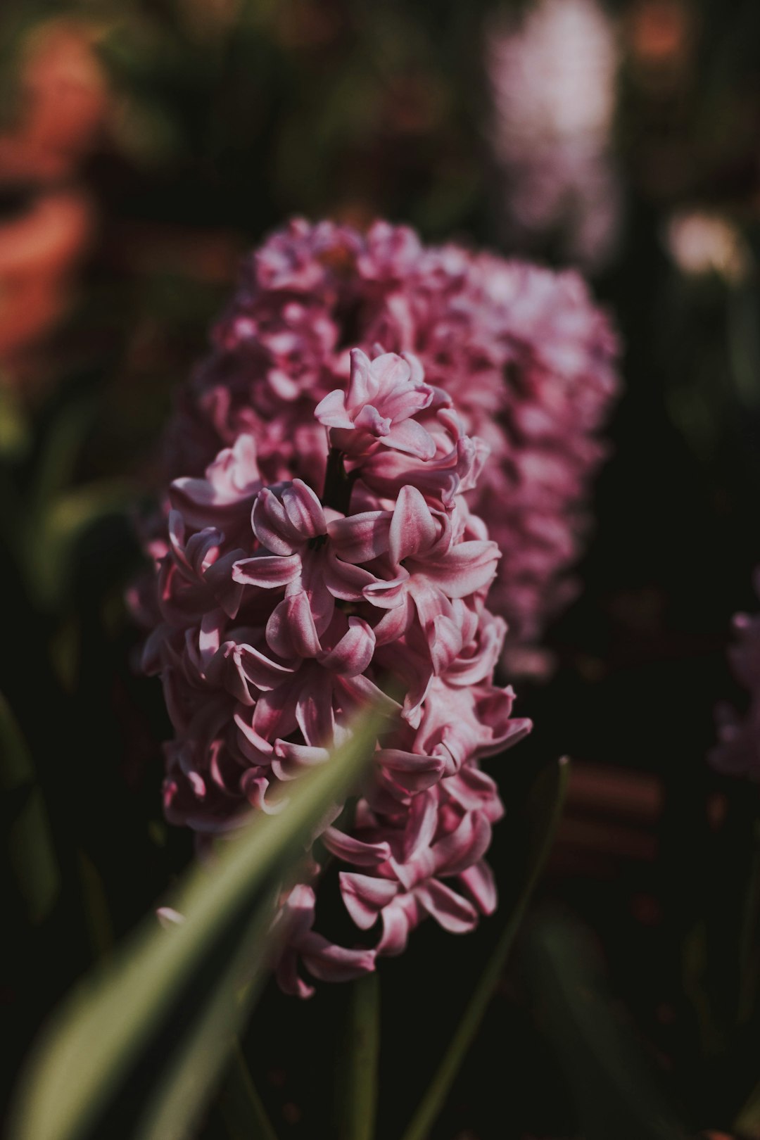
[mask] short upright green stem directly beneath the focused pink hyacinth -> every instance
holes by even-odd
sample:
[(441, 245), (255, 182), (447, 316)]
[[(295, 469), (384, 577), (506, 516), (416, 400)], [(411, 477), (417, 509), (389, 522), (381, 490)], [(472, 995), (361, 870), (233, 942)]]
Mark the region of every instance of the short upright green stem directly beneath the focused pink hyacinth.
[(338, 1140), (373, 1140), (377, 1117), (379, 978), (352, 983), (341, 1059)]

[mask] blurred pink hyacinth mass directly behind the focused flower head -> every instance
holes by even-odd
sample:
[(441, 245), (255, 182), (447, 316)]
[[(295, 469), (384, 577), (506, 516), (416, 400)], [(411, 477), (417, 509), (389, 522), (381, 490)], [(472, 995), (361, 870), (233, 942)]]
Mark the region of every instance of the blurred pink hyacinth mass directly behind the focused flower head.
[(376, 343), (418, 357), (490, 448), (467, 499), (502, 552), (495, 608), (509, 641), (534, 642), (573, 591), (565, 571), (616, 390), (615, 337), (574, 272), (425, 247), (384, 222), (359, 234), (293, 221), (246, 262), (213, 350), (181, 394), (170, 472), (201, 475), (247, 433), (268, 481), (321, 486), (314, 408), (345, 389), (350, 348)]

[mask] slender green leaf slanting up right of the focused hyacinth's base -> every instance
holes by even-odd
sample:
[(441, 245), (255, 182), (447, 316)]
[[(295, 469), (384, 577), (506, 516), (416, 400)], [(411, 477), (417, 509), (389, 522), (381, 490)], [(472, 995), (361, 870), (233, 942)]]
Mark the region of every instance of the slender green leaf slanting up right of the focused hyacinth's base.
[(483, 1020), (493, 990), (501, 977), (515, 936), (528, 910), (531, 895), (554, 845), (565, 799), (569, 767), (566, 758), (563, 757), (557, 764), (542, 772), (536, 781), (529, 804), (530, 856), (524, 886), (496, 948), (485, 963), (480, 982), (473, 991), (441, 1064), (403, 1133), (403, 1140), (424, 1140), (427, 1137), (443, 1108), (449, 1089)]

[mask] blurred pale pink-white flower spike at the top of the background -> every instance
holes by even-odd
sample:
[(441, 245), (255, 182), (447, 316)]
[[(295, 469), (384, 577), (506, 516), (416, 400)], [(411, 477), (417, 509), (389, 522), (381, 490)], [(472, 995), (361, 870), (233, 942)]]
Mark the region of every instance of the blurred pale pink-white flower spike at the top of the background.
[(499, 15), (485, 41), (491, 145), (505, 239), (522, 250), (559, 241), (587, 268), (608, 259), (620, 186), (611, 155), (619, 50), (596, 0), (537, 0)]

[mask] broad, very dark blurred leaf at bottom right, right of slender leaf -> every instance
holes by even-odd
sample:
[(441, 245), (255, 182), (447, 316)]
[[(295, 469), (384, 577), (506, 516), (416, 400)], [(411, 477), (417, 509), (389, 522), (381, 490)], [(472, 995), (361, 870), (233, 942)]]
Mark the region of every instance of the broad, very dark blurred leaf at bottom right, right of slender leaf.
[(613, 1016), (589, 938), (547, 915), (524, 951), (538, 1015), (566, 1072), (585, 1140), (684, 1140), (630, 1029)]

